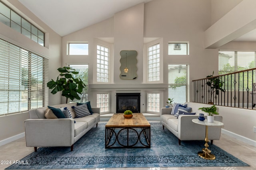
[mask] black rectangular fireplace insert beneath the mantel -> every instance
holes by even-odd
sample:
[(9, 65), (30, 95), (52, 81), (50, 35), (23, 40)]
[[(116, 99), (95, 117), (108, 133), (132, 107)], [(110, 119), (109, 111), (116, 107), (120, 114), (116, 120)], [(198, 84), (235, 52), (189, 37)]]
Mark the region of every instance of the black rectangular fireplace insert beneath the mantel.
[(124, 113), (126, 110), (140, 113), (140, 93), (116, 94), (116, 113)]

